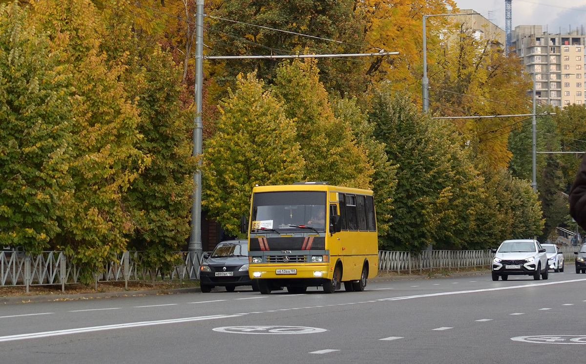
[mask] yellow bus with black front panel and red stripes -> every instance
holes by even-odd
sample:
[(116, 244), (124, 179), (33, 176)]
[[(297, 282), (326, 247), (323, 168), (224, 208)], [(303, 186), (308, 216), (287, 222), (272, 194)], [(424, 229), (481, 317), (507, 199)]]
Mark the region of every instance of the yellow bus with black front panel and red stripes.
[[(248, 221), (247, 221), (248, 220)], [(253, 188), (248, 233), (248, 275), (261, 294), (287, 287), (302, 293), (363, 291), (378, 271), (372, 190), (297, 182)]]

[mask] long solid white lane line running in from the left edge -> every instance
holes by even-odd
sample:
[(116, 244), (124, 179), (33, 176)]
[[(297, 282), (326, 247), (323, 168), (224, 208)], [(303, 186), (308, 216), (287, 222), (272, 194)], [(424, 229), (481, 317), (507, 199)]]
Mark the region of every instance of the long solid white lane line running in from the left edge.
[(140, 326), (153, 326), (153, 325), (163, 325), (163, 324), (179, 324), (179, 323), (182, 323), (182, 322), (203, 321), (203, 320), (210, 320), (210, 319), (216, 319), (216, 318), (230, 318), (230, 317), (239, 317), (239, 315), (212, 315), (212, 316), (186, 317), (186, 318), (166, 319), (166, 320), (158, 320), (158, 321), (128, 322), (127, 324), (115, 324), (115, 325), (104, 325), (104, 326), (91, 326), (91, 327), (83, 327), (83, 328), (77, 328), (77, 329), (65, 329), (65, 330), (56, 330), (56, 331), (33, 332), (31, 334), (19, 334), (19, 335), (0, 336), (0, 342), (16, 341), (16, 340), (24, 340), (24, 339), (47, 338), (49, 336), (61, 336), (61, 335), (71, 335), (71, 334), (82, 334), (84, 332), (95, 332), (95, 331), (106, 331), (106, 330), (114, 330), (114, 329), (125, 329), (125, 328), (134, 328), (134, 327), (140, 327)]

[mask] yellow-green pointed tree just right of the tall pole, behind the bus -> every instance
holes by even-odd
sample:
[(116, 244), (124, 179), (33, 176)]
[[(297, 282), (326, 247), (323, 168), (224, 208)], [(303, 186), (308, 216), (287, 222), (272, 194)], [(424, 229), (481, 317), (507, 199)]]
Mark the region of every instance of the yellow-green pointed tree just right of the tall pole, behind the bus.
[(216, 134), (203, 153), (202, 205), (237, 235), (240, 216), (249, 213), (253, 186), (299, 181), (305, 161), (293, 121), (254, 74), (240, 76), (237, 89), (219, 107)]

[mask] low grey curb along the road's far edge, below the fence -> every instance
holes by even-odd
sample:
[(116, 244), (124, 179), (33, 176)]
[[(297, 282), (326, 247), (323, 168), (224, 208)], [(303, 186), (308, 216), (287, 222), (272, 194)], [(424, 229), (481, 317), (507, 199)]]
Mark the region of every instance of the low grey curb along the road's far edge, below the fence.
[[(421, 280), (429, 278), (448, 278), (461, 277), (465, 275), (481, 275), (489, 274), (490, 270), (476, 271), (476, 272), (454, 272), (449, 274), (434, 274), (434, 275), (396, 275), (389, 277), (374, 277), (370, 278), (370, 282), (386, 282), (386, 281), (403, 281), (403, 280)], [(117, 298), (117, 297), (139, 297), (146, 295), (163, 295), (163, 294), (182, 294), (201, 292), (199, 287), (195, 288), (175, 288), (173, 290), (142, 290), (142, 291), (121, 291), (121, 292), (95, 292), (95, 293), (80, 293), (80, 294), (48, 294), (48, 295), (30, 295), (30, 296), (15, 296), (15, 297), (0, 297), (0, 305), (4, 304), (22, 304), (33, 302), (58, 302), (58, 301), (73, 301), (73, 300), (92, 300), (95, 298)]]

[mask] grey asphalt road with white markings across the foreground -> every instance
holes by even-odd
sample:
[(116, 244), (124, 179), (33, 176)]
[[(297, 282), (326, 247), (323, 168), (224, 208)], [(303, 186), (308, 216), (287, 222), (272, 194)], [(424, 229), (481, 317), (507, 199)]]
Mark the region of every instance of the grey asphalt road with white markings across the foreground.
[(566, 269), (4, 305), (0, 363), (581, 363), (584, 287)]

